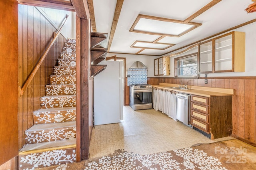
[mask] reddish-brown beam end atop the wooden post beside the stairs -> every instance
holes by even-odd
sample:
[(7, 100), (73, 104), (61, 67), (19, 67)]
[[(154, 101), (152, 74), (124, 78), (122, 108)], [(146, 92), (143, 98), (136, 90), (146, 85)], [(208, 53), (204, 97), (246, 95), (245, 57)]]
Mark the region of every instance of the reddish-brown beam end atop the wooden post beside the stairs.
[(90, 19), (90, 12), (88, 7), (87, 0), (70, 0), (74, 9), (76, 11), (76, 15), (79, 18), (89, 20)]

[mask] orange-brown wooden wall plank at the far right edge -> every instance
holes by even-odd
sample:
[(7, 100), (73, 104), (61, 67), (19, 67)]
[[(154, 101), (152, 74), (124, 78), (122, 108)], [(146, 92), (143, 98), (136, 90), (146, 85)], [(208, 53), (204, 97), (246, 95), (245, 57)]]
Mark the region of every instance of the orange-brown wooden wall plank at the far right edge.
[(245, 80), (244, 86), (244, 137), (255, 143), (255, 80)]

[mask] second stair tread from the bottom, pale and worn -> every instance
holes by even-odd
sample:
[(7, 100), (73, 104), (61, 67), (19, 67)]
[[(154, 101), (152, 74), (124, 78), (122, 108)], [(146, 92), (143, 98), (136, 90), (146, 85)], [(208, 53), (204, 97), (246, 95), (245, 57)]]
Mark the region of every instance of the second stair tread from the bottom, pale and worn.
[(37, 124), (33, 125), (29, 129), (25, 131), (31, 132), (31, 131), (42, 131), (46, 129), (58, 129), (58, 128), (67, 128), (67, 127), (76, 127), (76, 121), (66, 121), (61, 123), (44, 123), (44, 124)]

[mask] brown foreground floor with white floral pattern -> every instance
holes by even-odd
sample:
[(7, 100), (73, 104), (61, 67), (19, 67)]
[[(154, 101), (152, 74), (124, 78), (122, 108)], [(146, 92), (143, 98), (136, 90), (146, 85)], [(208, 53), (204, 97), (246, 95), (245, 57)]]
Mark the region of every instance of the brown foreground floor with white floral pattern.
[[(41, 168), (50, 170), (49, 168)], [(256, 148), (237, 139), (202, 144), (141, 156), (117, 150), (114, 154), (51, 170), (254, 170)]]

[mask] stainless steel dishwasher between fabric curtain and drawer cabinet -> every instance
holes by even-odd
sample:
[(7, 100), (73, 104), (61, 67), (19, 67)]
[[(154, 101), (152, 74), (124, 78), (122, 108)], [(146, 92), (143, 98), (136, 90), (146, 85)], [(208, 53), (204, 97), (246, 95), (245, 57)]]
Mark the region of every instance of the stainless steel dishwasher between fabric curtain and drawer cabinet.
[(176, 118), (184, 123), (190, 125), (190, 95), (176, 94)]

